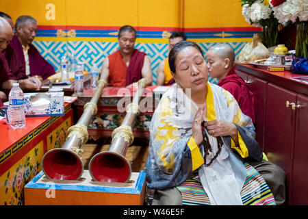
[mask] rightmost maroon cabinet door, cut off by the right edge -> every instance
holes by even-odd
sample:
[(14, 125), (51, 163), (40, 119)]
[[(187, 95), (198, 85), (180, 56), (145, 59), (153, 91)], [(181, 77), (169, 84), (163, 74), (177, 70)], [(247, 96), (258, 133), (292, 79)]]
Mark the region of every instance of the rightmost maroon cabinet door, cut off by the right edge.
[(298, 94), (293, 159), (292, 205), (308, 205), (308, 97)]

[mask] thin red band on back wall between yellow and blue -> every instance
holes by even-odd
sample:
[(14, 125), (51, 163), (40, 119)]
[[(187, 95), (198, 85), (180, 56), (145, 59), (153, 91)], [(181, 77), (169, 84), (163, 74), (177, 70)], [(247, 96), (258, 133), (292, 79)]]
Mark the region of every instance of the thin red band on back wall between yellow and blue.
[[(212, 31), (261, 31), (260, 27), (209, 27), (183, 28), (180, 27), (134, 27), (137, 31), (185, 31), (185, 32), (212, 32)], [(38, 25), (38, 29), (77, 29), (77, 30), (114, 30), (117, 26), (75, 26), (75, 25)]]

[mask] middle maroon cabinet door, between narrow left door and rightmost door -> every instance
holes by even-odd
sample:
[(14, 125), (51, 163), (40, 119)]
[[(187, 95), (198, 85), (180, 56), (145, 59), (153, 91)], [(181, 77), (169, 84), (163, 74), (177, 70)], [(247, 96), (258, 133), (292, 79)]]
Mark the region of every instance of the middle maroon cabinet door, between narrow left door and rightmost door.
[(285, 102), (296, 103), (296, 93), (268, 83), (264, 151), (271, 162), (280, 166), (287, 175), (287, 188), (292, 177), (295, 110)]

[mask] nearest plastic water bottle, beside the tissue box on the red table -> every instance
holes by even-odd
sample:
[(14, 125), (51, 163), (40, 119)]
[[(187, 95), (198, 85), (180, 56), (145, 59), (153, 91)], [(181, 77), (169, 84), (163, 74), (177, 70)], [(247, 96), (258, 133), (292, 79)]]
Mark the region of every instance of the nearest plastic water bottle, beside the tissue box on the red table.
[(19, 83), (13, 83), (9, 94), (10, 103), (10, 125), (13, 129), (22, 129), (25, 127), (25, 97), (23, 90), (19, 88)]

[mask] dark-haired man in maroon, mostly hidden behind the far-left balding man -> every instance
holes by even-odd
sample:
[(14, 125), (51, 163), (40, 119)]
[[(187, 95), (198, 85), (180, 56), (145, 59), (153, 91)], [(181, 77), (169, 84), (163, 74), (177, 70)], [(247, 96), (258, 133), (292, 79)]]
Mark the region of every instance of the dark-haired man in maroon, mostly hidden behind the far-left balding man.
[[(0, 12), (0, 16), (5, 18), (6, 21), (10, 24), (12, 27), (12, 31), (14, 32), (14, 24), (12, 21), (12, 18), (10, 15), (5, 14), (4, 12)], [(12, 40), (12, 37), (8, 38), (8, 35), (4, 36), (5, 40), (7, 42), (10, 42)], [(20, 79), (29, 79), (25, 81), (25, 88), (30, 89), (30, 90), (40, 90), (42, 86), (42, 81), (40, 79), (36, 78), (35, 76), (27, 76), (25, 74), (25, 66), (21, 62), (21, 60), (18, 57), (18, 54), (14, 51), (14, 49), (8, 44), (6, 49), (4, 49), (3, 52), (5, 59), (8, 61), (8, 66), (10, 70), (12, 71), (12, 74), (16, 77), (17, 80)]]

